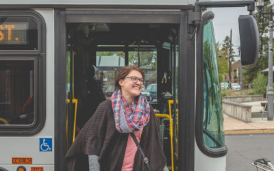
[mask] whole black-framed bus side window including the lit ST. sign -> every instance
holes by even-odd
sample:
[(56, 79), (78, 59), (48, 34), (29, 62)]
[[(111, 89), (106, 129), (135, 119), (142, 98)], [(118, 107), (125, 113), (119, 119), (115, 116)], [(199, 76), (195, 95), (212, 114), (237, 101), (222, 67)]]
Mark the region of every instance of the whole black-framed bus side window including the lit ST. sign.
[(1, 135), (33, 135), (45, 125), (45, 35), (38, 12), (0, 14)]

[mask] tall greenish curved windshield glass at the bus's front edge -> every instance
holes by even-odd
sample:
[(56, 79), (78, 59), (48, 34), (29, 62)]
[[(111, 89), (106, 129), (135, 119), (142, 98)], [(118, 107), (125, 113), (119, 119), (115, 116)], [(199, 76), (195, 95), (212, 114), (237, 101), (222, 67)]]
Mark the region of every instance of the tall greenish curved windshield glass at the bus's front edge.
[(203, 141), (210, 148), (225, 146), (221, 88), (212, 21), (203, 30)]

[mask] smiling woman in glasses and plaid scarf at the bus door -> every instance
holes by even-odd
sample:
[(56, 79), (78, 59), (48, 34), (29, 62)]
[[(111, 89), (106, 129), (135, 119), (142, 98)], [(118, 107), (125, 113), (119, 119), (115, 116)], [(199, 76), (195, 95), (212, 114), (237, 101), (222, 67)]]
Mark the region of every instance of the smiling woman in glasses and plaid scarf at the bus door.
[(138, 66), (119, 70), (117, 90), (99, 105), (67, 153), (69, 170), (147, 170), (130, 133), (140, 143), (151, 170), (167, 170), (157, 119), (141, 94), (144, 79)]

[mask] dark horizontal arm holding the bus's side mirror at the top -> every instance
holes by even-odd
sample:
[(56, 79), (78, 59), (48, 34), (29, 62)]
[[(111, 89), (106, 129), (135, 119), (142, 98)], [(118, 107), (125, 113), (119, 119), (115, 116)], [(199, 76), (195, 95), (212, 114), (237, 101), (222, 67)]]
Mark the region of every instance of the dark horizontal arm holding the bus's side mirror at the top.
[(252, 14), (255, 10), (254, 1), (203, 1), (195, 3), (195, 11), (201, 11), (202, 8), (223, 8), (223, 7), (245, 7)]

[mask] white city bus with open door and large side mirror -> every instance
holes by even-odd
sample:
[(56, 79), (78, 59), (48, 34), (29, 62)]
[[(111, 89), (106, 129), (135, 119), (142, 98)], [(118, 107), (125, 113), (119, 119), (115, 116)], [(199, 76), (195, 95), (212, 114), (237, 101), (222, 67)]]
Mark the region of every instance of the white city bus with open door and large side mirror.
[(225, 170), (207, 8), (229, 6), (250, 12), (239, 17), (240, 43), (242, 65), (253, 64), (253, 1), (0, 1), (0, 170), (66, 170), (75, 137), (131, 64), (145, 71), (169, 170)]

